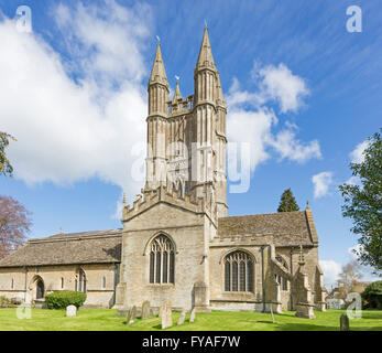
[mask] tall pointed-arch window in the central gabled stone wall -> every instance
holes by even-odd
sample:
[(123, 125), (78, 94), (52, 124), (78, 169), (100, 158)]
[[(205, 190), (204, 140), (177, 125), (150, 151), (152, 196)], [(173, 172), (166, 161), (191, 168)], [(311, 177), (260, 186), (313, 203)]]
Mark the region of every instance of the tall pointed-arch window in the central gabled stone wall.
[(151, 243), (150, 284), (174, 284), (174, 245), (165, 235), (159, 235)]

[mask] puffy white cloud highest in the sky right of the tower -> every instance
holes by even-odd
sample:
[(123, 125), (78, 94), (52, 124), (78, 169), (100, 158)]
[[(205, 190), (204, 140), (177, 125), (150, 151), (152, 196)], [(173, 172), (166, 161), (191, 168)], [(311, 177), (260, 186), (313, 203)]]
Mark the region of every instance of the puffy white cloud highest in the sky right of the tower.
[(281, 113), (296, 111), (303, 105), (303, 97), (309, 94), (304, 79), (293, 75), (284, 64), (269, 65), (259, 71), (265, 98), (280, 104)]

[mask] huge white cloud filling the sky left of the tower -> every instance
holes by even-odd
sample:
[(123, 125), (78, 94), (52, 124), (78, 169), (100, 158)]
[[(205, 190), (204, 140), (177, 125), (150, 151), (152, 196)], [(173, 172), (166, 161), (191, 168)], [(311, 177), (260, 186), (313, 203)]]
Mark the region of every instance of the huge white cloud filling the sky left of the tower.
[(145, 140), (144, 11), (114, 1), (61, 4), (55, 18), (67, 34), (66, 62), (41, 36), (0, 22), (1, 129), (18, 139), (9, 148), (15, 178), (66, 184), (96, 175), (129, 195), (139, 191), (130, 151)]

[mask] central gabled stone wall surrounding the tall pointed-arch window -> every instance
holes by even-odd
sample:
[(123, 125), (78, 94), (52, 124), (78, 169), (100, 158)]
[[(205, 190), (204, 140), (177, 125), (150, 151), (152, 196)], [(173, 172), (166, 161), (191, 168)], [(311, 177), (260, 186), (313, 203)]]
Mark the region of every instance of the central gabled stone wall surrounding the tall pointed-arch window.
[[(192, 309), (195, 284), (209, 284), (208, 240), (214, 233), (216, 228), (204, 213), (165, 202), (156, 203), (155, 207), (134, 214), (124, 222), (122, 284), (117, 293), (120, 298), (121, 292), (125, 292), (122, 307), (141, 306), (150, 300), (152, 307), (171, 301), (173, 308)], [(174, 285), (150, 284), (149, 280), (150, 246), (160, 234), (167, 236), (175, 246)], [(206, 301), (209, 301), (208, 291)]]

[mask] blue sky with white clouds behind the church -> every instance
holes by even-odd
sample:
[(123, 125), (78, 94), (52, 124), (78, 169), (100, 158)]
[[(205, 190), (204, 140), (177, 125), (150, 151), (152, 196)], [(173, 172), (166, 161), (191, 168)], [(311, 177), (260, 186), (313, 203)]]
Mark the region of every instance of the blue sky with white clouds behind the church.
[[(32, 33), (10, 20), (21, 4)], [(354, 4), (361, 33), (346, 29)], [(1, 176), (0, 193), (33, 212), (31, 237), (121, 227), (122, 189), (131, 203), (142, 186), (129, 176), (130, 151), (145, 140), (155, 36), (171, 87), (179, 76), (187, 96), (207, 21), (229, 137), (252, 143), (250, 189), (228, 194), (229, 215), (275, 212), (291, 188), (313, 210), (326, 282), (350, 260), (357, 237), (338, 185), (381, 127), (379, 1), (0, 0), (0, 130), (18, 138), (14, 179)]]

